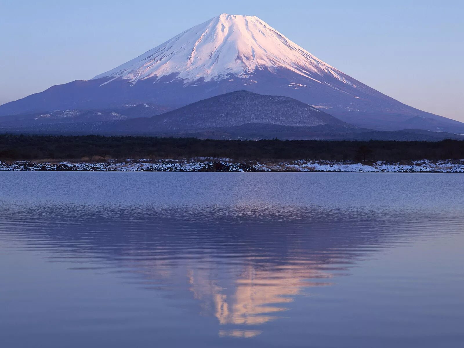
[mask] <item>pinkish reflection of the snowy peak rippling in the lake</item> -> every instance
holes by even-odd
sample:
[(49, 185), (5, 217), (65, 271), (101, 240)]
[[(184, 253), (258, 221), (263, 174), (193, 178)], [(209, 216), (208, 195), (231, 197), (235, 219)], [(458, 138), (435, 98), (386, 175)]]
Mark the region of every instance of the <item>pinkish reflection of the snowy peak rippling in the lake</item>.
[(227, 294), (227, 288), (213, 285), (208, 279), (209, 274), (191, 272), (190, 290), (196, 299), (209, 304), (209, 311), (220, 324), (263, 324), (274, 319), (277, 312), (285, 310), (285, 303), (293, 301), (304, 287), (328, 284), (307, 281), (314, 277), (331, 277), (312, 269), (313, 265), (307, 266), (280, 266), (274, 271), (247, 266), (238, 274), (231, 294)]

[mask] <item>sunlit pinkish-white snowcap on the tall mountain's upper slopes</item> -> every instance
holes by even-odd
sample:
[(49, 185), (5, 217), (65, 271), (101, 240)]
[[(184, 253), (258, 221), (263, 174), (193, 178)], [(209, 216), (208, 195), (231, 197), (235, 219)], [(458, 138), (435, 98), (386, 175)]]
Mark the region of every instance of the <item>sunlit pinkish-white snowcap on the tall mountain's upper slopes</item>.
[[(133, 83), (177, 74), (187, 83), (220, 80), (256, 70), (288, 69), (321, 82), (330, 74), (352, 84), (343, 74), (287, 39), (256, 16), (223, 13), (94, 79), (113, 77)], [(322, 83), (322, 82), (321, 82)]]

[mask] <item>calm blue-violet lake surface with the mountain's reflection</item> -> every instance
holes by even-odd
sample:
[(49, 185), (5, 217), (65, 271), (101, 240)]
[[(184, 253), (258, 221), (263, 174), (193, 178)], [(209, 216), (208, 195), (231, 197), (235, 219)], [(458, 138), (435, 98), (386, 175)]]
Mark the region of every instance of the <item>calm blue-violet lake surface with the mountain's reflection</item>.
[(464, 175), (0, 173), (0, 342), (464, 347)]

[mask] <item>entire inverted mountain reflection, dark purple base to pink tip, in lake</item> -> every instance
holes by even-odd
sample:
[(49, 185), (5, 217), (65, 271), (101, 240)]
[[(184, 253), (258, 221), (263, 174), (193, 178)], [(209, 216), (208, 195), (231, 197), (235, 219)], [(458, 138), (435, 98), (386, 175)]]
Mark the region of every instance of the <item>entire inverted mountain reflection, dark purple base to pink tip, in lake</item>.
[(275, 319), (304, 288), (329, 285), (350, 264), (420, 229), (402, 228), (410, 215), (400, 211), (264, 204), (14, 206), (0, 210), (5, 216), (15, 218), (2, 223), (2, 238), (22, 237), (53, 259), (116, 267), (169, 297), (193, 294), (200, 312), (224, 325), (219, 335), (234, 337), (258, 335), (256, 325)]

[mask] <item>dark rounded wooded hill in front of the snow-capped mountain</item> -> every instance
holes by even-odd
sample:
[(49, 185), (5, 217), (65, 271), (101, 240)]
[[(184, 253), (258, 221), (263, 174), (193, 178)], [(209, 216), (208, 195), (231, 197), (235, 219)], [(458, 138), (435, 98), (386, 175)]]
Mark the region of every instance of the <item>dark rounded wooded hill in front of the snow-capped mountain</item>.
[(312, 127), (347, 123), (289, 97), (263, 96), (245, 90), (211, 97), (180, 109), (112, 124), (112, 131), (146, 133), (235, 127), (246, 123)]

